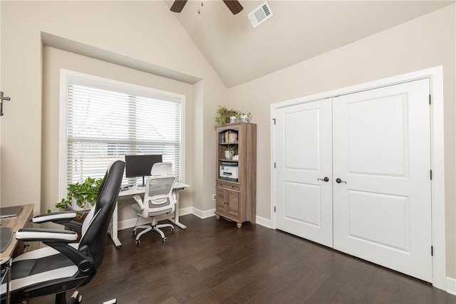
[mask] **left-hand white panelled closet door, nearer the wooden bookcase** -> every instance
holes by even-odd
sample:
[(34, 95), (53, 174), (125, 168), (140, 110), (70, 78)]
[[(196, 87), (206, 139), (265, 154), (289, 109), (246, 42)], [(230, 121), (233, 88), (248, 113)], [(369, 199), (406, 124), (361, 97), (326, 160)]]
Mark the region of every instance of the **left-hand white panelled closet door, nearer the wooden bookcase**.
[(332, 246), (331, 100), (275, 114), (276, 228)]

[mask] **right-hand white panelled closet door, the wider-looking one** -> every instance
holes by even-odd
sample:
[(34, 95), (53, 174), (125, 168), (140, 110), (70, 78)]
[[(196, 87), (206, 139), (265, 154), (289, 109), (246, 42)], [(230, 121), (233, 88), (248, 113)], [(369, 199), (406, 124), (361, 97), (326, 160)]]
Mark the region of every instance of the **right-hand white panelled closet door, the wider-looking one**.
[(333, 98), (334, 248), (432, 281), (429, 80)]

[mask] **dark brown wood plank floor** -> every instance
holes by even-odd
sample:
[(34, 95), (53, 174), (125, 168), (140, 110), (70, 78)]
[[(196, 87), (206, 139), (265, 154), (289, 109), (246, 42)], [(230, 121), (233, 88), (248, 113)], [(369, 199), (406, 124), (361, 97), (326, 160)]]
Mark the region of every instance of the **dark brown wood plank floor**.
[[(187, 230), (119, 232), (83, 303), (456, 303), (456, 296), (281, 231), (182, 216)], [(28, 303), (53, 303), (47, 296)]]

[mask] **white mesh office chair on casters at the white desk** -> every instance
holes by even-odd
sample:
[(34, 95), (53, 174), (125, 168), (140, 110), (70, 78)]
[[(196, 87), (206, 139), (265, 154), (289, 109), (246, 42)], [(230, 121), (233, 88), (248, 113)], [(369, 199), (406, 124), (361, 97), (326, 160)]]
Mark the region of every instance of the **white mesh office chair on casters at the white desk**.
[[(166, 236), (160, 228), (170, 227), (174, 231), (172, 224), (157, 224), (156, 216), (174, 212), (176, 199), (172, 194), (172, 188), (176, 178), (172, 176), (172, 164), (170, 162), (158, 162), (154, 164), (145, 184), (144, 200), (141, 196), (135, 195), (133, 198), (138, 204), (131, 207), (138, 216), (152, 218), (150, 226), (135, 226), (133, 236), (136, 236), (136, 245), (140, 244), (140, 237), (149, 231), (157, 231), (162, 236), (162, 241), (166, 241)], [(145, 229), (138, 234), (138, 229)]]

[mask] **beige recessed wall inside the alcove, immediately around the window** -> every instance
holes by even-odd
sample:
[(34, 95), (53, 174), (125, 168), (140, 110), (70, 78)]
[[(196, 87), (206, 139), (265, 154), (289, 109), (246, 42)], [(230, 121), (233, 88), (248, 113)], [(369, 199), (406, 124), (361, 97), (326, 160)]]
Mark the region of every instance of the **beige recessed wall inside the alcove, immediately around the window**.
[[(185, 117), (187, 119), (183, 128), (185, 130), (186, 140), (184, 157), (185, 163), (189, 165), (185, 168), (184, 181), (187, 184), (193, 184), (193, 85), (45, 46), (43, 47), (43, 138), (41, 152), (43, 155), (42, 166), (46, 169), (43, 169), (41, 172), (41, 201), (55, 202), (61, 199), (61, 197), (58, 197), (58, 189), (56, 188), (56, 184), (58, 184), (59, 88), (61, 68), (185, 95)], [(122, 201), (122, 206), (119, 207), (119, 221), (136, 217), (135, 212), (130, 208), (130, 204), (133, 203), (133, 199)], [(190, 206), (192, 206), (190, 192), (182, 192), (180, 194), (180, 207), (185, 208)], [(41, 212), (46, 211), (43, 208), (46, 208), (46, 206), (41, 206)]]

